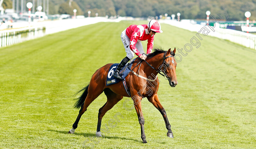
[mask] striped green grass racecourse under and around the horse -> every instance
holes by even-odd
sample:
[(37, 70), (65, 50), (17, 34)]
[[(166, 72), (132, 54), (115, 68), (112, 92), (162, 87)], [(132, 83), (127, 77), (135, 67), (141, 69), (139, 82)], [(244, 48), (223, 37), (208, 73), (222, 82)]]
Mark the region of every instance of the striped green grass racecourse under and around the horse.
[[(123, 29), (144, 23), (97, 23), (0, 48), (0, 148), (84, 148), (90, 143), (120, 149), (256, 148), (256, 51), (204, 35), (201, 46), (193, 46), (178, 63), (175, 88), (158, 75), (158, 96), (174, 138), (166, 136), (162, 115), (144, 98), (148, 143), (143, 144), (135, 109), (123, 107), (125, 97), (106, 113), (101, 128), (116, 113), (124, 118), (95, 144), (90, 138), (104, 93), (88, 107), (75, 133), (67, 133), (79, 111), (73, 109), (73, 95), (98, 68), (126, 56)], [(184, 49), (196, 36), (167, 24), (162, 30), (154, 46), (165, 50)], [(147, 42), (142, 43), (146, 50)]]

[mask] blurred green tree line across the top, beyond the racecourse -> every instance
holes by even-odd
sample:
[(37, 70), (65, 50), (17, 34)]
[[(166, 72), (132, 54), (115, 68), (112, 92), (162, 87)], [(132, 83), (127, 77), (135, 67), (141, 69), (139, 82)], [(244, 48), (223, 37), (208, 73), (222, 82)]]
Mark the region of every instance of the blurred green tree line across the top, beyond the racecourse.
[[(26, 2), (32, 2), (27, 0)], [(6, 3), (7, 2), (7, 3)], [(36, 0), (37, 2), (37, 0)], [(4, 0), (7, 6), (11, 0)], [(4, 4), (3, 4), (4, 5)], [(250, 19), (256, 19), (256, 0), (73, 0), (69, 6), (69, 0), (50, 0), (49, 14), (70, 14), (77, 9), (76, 15), (91, 16), (98, 13), (99, 16), (164, 16), (167, 13), (181, 13), (180, 19), (205, 19), (205, 12), (209, 10), (212, 15), (224, 13), (223, 7), (229, 16), (226, 20), (246, 20), (244, 13), (251, 12)]]

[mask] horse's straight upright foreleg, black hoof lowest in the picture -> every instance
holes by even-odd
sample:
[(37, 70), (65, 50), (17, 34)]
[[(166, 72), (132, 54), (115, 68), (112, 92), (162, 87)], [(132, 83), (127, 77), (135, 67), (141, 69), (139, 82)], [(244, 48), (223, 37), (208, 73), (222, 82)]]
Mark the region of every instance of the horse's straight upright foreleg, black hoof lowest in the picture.
[(143, 113), (142, 113), (142, 109), (141, 109), (141, 102), (140, 101), (141, 101), (141, 99), (137, 99), (137, 98), (133, 99), (135, 110), (137, 112), (137, 116), (138, 116), (139, 123), (140, 123), (141, 139), (142, 139), (143, 143), (147, 143), (146, 135), (145, 135), (145, 131), (144, 131), (145, 120), (144, 120), (144, 117), (143, 117)]

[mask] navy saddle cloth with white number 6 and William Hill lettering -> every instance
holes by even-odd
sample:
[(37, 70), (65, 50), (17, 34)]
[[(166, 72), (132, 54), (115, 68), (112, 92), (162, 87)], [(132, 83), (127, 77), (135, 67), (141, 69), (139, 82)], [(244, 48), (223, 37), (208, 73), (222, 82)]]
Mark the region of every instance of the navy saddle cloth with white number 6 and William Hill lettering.
[[(121, 69), (120, 75), (122, 76), (122, 79), (124, 79), (124, 78), (129, 74), (129, 72), (130, 72), (130, 70), (131, 70), (131, 67), (132, 67), (133, 62), (134, 62), (135, 59), (136, 59), (136, 58), (134, 58), (133, 60), (131, 60), (129, 63), (127, 63), (127, 64), (125, 65), (125, 67), (123, 67), (123, 68)], [(118, 65), (117, 63), (116, 63), (116, 64), (112, 64), (112, 65), (110, 66), (109, 70), (108, 70), (107, 86), (122, 81), (122, 80), (117, 79), (117, 78), (115, 78), (115, 77), (112, 76), (113, 73), (114, 73), (114, 71), (115, 71), (116, 68), (117, 68), (117, 65)]]

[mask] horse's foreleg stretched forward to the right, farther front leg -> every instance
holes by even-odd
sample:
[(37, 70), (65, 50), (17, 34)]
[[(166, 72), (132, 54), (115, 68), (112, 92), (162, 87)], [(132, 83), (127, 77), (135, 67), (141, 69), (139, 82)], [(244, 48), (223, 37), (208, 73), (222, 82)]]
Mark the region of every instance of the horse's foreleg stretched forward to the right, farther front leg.
[(156, 107), (156, 109), (158, 109), (160, 111), (160, 113), (162, 114), (162, 116), (164, 118), (166, 129), (168, 130), (167, 136), (170, 137), (170, 138), (173, 138), (171, 125), (170, 125), (169, 120), (167, 118), (165, 109), (163, 108), (163, 106), (161, 105), (161, 103), (158, 99), (157, 93), (155, 95), (151, 96), (151, 97), (148, 97), (148, 101), (151, 102)]

